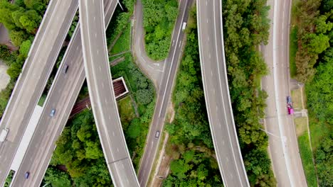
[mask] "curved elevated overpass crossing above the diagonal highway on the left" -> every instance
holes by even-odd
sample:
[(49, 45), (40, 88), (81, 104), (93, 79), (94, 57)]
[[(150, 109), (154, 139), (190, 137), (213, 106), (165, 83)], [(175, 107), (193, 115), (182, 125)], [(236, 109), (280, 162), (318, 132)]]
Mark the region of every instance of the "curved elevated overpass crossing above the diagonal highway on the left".
[(112, 85), (103, 3), (98, 0), (79, 0), (79, 11), (85, 74), (107, 168), (115, 186), (139, 186)]

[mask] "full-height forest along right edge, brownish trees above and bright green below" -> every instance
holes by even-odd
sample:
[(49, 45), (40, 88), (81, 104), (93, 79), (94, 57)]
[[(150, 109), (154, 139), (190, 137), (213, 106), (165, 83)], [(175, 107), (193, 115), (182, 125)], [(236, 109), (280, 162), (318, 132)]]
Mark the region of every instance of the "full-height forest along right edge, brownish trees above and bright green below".
[(333, 1), (299, 1), (296, 79), (305, 82), (319, 186), (333, 186)]

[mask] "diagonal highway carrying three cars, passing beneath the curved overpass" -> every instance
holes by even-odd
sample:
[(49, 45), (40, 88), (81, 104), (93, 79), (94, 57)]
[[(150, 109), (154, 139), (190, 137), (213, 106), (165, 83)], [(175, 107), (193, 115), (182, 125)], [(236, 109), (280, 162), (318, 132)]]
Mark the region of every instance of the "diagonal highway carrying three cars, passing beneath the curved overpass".
[[(117, 6), (117, 1), (105, 0), (105, 23), (109, 23)], [(80, 23), (79, 23), (80, 24)], [(75, 29), (60, 64), (59, 71), (44, 103), (41, 119), (29, 144), (23, 162), (16, 171), (13, 186), (39, 186), (48, 168), (56, 140), (67, 123), (70, 111), (78, 97), (85, 81), (85, 69), (82, 56), (80, 26)], [(68, 72), (62, 69), (68, 64)], [(56, 108), (56, 115), (50, 118), (51, 108)], [(38, 145), (36, 147), (36, 145)], [(30, 172), (29, 179), (23, 178), (26, 171)]]

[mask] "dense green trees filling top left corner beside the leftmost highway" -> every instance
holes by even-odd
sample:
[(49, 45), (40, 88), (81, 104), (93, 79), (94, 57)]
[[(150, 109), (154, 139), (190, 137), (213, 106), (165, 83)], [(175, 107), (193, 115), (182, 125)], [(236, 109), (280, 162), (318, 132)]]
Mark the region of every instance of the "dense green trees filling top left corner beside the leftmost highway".
[(6, 45), (0, 45), (0, 59), (9, 67), (7, 74), (11, 77), (6, 89), (0, 92), (0, 116), (4, 113), (16, 79), (21, 73), (47, 4), (48, 0), (16, 0), (14, 4), (0, 0), (0, 23), (9, 30), (9, 38), (14, 47), (18, 47), (18, 51), (15, 51)]

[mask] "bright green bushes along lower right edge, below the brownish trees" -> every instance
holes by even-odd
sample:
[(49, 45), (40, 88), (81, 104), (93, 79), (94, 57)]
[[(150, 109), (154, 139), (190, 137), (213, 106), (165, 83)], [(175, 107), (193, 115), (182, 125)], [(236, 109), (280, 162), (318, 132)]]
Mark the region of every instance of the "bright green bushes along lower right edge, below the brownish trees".
[(310, 132), (319, 186), (333, 186), (333, 48), (324, 53), (314, 79), (306, 84)]

